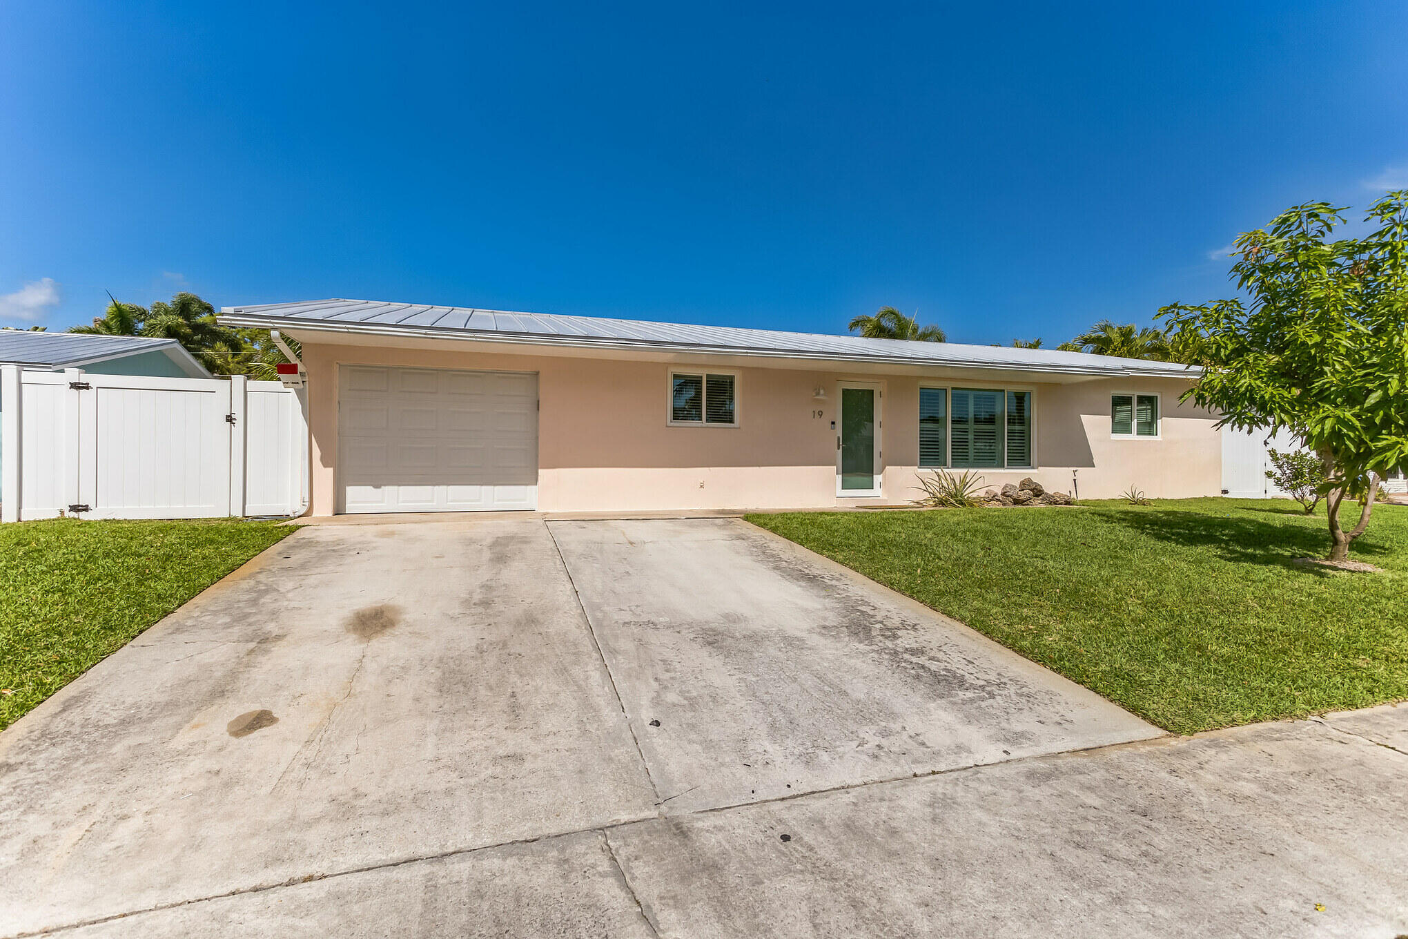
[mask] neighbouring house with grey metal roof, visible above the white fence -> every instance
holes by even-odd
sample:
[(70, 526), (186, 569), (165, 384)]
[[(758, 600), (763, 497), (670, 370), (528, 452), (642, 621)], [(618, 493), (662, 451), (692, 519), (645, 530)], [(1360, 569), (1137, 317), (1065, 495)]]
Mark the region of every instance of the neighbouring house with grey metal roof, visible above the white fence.
[[(83, 369), (97, 374), (155, 374), (169, 379), (208, 379), (207, 372), (176, 339), (106, 336), (84, 332), (0, 329), (0, 365), (39, 372)], [(4, 400), (0, 398), (0, 412)]]

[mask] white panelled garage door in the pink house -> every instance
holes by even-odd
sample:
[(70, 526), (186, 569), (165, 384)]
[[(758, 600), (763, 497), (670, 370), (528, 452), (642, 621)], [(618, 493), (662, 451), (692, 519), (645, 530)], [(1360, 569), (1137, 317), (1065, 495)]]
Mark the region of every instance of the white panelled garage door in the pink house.
[(345, 512), (538, 507), (538, 376), (345, 365)]

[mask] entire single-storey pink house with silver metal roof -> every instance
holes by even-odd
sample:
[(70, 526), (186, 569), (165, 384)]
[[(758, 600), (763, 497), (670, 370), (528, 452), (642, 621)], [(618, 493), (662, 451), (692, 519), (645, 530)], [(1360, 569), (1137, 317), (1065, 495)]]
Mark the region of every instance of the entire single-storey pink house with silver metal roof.
[(905, 504), (928, 467), (1222, 487), (1181, 365), (358, 300), (220, 318), (303, 344), (315, 515)]

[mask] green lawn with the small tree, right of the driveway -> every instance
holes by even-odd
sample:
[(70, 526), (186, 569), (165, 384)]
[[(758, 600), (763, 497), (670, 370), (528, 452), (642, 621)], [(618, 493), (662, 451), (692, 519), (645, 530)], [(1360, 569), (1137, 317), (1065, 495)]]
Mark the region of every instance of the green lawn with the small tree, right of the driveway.
[(1408, 698), (1408, 507), (1350, 549), (1377, 574), (1293, 565), (1329, 536), (1284, 501), (748, 519), (1177, 733)]

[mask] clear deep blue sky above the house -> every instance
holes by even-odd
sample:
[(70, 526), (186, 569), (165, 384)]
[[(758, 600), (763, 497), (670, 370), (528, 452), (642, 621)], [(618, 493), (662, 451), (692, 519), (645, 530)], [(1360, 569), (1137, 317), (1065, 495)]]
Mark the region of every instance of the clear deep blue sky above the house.
[(0, 6), (0, 322), (184, 289), (1055, 345), (1408, 186), (1397, 1), (458, 6)]

